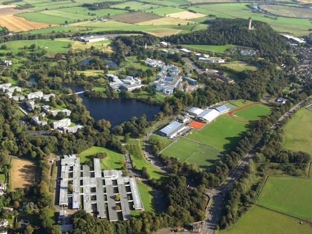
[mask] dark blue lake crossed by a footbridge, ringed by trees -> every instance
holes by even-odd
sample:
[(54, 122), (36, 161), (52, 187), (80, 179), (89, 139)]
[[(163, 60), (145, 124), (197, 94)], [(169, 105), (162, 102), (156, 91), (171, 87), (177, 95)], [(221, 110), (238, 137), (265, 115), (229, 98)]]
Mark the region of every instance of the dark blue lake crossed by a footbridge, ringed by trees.
[[(79, 85), (64, 85), (71, 88), (74, 92), (83, 91), (83, 87)], [(107, 98), (90, 98), (84, 94), (78, 95), (82, 98), (82, 103), (90, 112), (90, 116), (98, 121), (104, 118), (111, 122), (112, 127), (129, 120), (132, 117), (140, 117), (146, 115), (147, 120), (152, 120), (153, 116), (160, 112), (160, 107), (149, 105), (136, 99), (107, 99)]]

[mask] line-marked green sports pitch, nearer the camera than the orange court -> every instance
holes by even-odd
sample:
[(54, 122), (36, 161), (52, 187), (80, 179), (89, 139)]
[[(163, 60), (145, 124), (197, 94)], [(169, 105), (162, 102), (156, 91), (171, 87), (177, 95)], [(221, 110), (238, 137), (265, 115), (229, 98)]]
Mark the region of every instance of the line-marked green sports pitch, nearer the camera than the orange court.
[(161, 152), (163, 155), (176, 157), (179, 162), (193, 163), (200, 168), (209, 168), (220, 159), (220, 152), (207, 145), (200, 145), (191, 140), (180, 138), (167, 149)]

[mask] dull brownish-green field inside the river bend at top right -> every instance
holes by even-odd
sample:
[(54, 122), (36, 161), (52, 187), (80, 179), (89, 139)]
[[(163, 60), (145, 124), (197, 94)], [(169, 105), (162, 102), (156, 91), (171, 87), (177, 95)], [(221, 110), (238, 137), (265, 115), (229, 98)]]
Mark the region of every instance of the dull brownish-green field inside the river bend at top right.
[(310, 8), (269, 4), (260, 5), (260, 8), (264, 11), (279, 16), (312, 18), (312, 9)]

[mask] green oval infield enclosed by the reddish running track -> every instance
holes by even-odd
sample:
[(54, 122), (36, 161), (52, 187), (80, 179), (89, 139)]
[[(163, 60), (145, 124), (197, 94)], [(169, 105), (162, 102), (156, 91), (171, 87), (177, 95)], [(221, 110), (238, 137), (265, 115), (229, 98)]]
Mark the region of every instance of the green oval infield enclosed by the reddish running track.
[(267, 105), (253, 105), (234, 113), (236, 119), (243, 121), (255, 121), (270, 115), (272, 109)]

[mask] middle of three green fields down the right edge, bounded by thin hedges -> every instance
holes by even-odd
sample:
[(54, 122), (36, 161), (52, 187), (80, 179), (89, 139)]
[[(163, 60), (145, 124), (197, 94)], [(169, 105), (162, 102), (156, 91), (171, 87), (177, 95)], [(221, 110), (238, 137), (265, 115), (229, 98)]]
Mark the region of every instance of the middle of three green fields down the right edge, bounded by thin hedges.
[(312, 220), (311, 178), (270, 176), (257, 204), (273, 210)]

